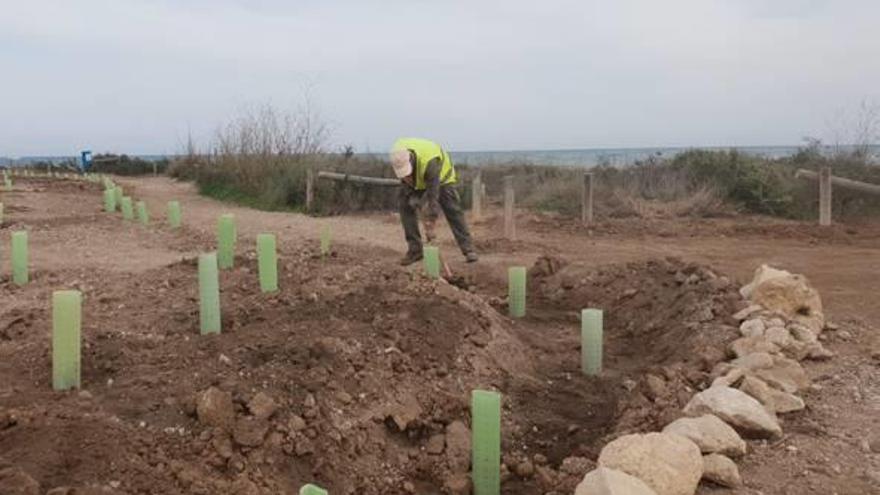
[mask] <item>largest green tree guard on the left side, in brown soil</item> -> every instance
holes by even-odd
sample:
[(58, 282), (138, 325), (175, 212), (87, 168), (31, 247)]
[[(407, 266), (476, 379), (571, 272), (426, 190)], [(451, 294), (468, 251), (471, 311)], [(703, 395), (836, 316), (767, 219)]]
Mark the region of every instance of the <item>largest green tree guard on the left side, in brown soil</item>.
[(80, 326), (82, 294), (77, 290), (52, 293), (52, 388), (80, 386)]

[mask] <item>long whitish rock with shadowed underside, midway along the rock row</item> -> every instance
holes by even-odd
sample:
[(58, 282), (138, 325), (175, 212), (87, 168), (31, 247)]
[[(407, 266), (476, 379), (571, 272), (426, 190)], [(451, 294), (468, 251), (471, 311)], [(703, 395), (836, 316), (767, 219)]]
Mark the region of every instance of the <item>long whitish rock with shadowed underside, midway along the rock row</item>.
[(776, 415), (745, 392), (725, 386), (709, 387), (684, 407), (688, 416), (714, 414), (746, 438), (779, 438), (782, 427)]

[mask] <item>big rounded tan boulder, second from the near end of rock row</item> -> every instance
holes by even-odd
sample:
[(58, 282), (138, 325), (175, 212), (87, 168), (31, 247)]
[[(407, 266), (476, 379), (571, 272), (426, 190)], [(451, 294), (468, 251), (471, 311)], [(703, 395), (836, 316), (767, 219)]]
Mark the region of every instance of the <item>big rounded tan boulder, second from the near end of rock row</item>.
[(602, 449), (599, 465), (639, 478), (657, 495), (693, 495), (703, 476), (700, 448), (668, 433), (622, 436)]

